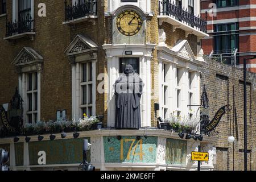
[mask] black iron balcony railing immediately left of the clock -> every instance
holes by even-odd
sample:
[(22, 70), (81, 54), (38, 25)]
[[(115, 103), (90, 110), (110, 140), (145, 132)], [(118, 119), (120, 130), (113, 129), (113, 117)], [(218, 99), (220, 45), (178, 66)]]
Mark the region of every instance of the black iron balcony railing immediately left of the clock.
[[(72, 3), (72, 1), (71, 1)], [(68, 5), (65, 1), (65, 20), (73, 20), (82, 18), (84, 16), (96, 16), (97, 15), (97, 2), (96, 0), (86, 0), (84, 3), (75, 5)]]

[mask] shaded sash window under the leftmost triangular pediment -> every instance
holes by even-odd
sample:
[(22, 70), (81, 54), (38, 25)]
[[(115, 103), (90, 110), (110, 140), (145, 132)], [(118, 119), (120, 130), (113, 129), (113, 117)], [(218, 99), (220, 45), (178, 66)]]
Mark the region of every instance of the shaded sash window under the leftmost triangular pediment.
[(38, 121), (38, 73), (26, 74), (27, 83), (27, 122), (36, 123)]

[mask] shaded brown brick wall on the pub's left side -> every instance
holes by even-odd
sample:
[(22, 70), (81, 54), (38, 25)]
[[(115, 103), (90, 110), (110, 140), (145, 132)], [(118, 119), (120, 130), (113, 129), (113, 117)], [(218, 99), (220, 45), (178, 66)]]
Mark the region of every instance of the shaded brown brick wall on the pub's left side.
[[(64, 2), (44, 1), (47, 7), (47, 16), (37, 16), (37, 5), (35, 0), (35, 31), (34, 40), (28, 38), (17, 39), (15, 42), (3, 40), (6, 30), (6, 17), (0, 18), (0, 104), (9, 102), (14, 95), (15, 87), (18, 86), (18, 75), (15, 73), (11, 61), (25, 46), (34, 48), (44, 58), (41, 78), (41, 119), (48, 121), (56, 118), (56, 110), (67, 109), (69, 119), (72, 119), (72, 87), (71, 87), (71, 65), (68, 57), (64, 54), (65, 49), (77, 34), (88, 35), (99, 46), (96, 73), (105, 72), (105, 51), (101, 45), (105, 42), (106, 30), (104, 9), (105, 3), (98, 6), (98, 19), (96, 25), (91, 22), (82, 22), (75, 26), (63, 25)], [(7, 1), (8, 19), (12, 19), (12, 2)], [(103, 64), (102, 64), (103, 63)], [(106, 114), (104, 105), (104, 94), (96, 96), (96, 114)], [(50, 103), (50, 104), (49, 104)]]

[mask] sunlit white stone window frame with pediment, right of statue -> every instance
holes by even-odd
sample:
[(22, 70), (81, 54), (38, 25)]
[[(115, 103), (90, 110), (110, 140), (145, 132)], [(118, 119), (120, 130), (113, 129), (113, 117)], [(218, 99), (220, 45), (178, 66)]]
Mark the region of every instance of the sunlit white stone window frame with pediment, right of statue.
[[(196, 114), (198, 107), (192, 106), (192, 112), (189, 112), (188, 107), (188, 92), (193, 93), (193, 102), (191, 105), (200, 105), (200, 69), (205, 62), (197, 57), (193, 56), (192, 50), (189, 47), (187, 40), (180, 40), (173, 48), (160, 45), (158, 49), (159, 60), (159, 73), (161, 74), (162, 64), (170, 64), (168, 71), (168, 113), (177, 116), (177, 111), (180, 111), (180, 116), (188, 116), (188, 113)], [(182, 75), (180, 79), (180, 85), (177, 86), (176, 68), (180, 69)], [(192, 89), (189, 90), (188, 73), (194, 74)], [(159, 74), (159, 105), (163, 107), (163, 89), (162, 89), (162, 77)], [(177, 89), (181, 90), (180, 108), (177, 108)], [(161, 95), (160, 95), (161, 94)], [(163, 117), (163, 111), (160, 109), (159, 115)]]

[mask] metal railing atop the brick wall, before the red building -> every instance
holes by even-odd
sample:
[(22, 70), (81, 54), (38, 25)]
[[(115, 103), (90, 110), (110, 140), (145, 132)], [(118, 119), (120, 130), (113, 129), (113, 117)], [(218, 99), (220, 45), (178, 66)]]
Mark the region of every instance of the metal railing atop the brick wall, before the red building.
[(227, 49), (221, 51), (212, 51), (209, 55), (210, 59), (216, 60), (220, 63), (237, 65), (238, 49)]

